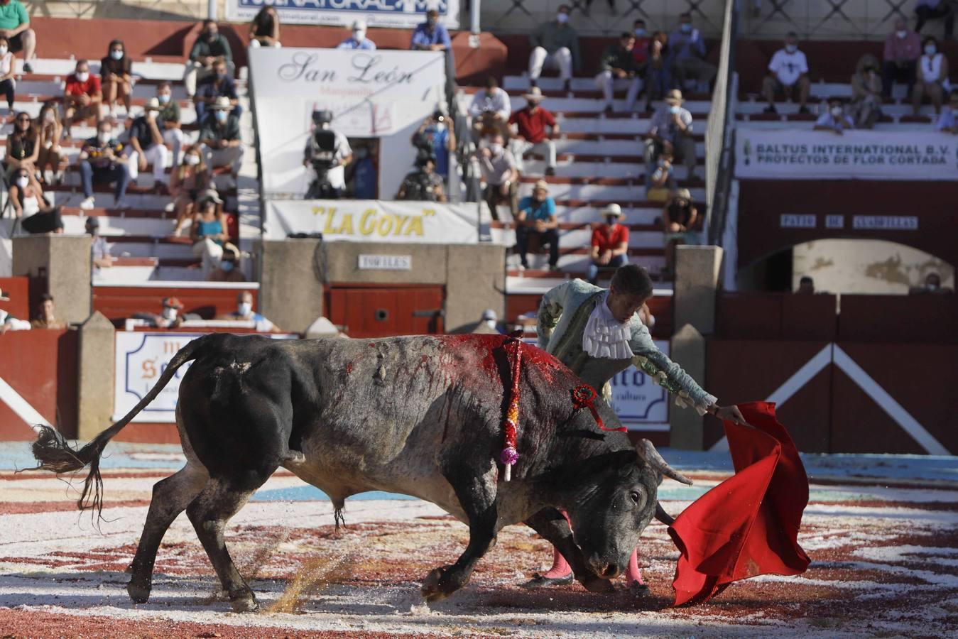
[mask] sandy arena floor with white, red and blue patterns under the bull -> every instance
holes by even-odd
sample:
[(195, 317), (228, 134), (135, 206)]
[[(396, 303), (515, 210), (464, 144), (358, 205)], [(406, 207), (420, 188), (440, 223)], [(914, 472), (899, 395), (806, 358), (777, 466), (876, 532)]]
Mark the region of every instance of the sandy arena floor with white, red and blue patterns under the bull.
[[(66, 483), (12, 473), (30, 465), (26, 452), (26, 444), (0, 445), (0, 636), (942, 637), (958, 628), (958, 458), (807, 456), (811, 503), (800, 542), (809, 571), (740, 582), (683, 608), (670, 607), (677, 551), (657, 523), (642, 548), (645, 599), (578, 584), (522, 589), (551, 555), (514, 526), (466, 588), (427, 607), (420, 581), (458, 557), (464, 525), (431, 504), (378, 493), (347, 502), (347, 528), (336, 536), (324, 495), (278, 474), (228, 532), (262, 606), (234, 614), (185, 515), (160, 548), (148, 604), (126, 597), (151, 487), (179, 468), (177, 448), (107, 448), (99, 531), (76, 512)], [(688, 489), (663, 484), (671, 513), (731, 469), (727, 453), (666, 457), (696, 479)]]

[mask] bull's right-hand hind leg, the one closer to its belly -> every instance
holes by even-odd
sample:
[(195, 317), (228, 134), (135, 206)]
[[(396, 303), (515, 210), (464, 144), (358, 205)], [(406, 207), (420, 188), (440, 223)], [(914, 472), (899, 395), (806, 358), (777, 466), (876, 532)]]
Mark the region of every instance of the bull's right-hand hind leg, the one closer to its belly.
[(186, 509), (196, 536), (203, 544), (213, 568), (217, 571), (219, 582), (237, 612), (256, 610), (258, 605), (253, 591), (239, 575), (236, 564), (226, 550), (223, 530), (226, 528), (226, 522), (239, 512), (250, 495), (265, 483), (274, 470), (276, 467), (249, 470), (243, 473), (242, 481), (213, 478)]

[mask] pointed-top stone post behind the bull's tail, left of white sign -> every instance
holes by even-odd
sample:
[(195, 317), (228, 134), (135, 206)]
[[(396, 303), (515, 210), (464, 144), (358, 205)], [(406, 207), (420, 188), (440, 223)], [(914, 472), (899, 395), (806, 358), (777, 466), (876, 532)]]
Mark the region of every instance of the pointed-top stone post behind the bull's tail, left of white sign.
[(99, 310), (80, 326), (80, 380), (77, 438), (93, 439), (113, 415), (116, 338), (113, 324)]

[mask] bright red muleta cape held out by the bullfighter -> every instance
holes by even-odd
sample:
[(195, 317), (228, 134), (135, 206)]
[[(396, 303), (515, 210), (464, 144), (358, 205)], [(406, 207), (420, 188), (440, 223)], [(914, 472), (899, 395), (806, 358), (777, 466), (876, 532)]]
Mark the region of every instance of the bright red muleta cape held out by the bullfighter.
[(798, 545), (809, 477), (775, 404), (739, 404), (748, 428), (723, 422), (735, 475), (699, 497), (669, 527), (681, 551), (674, 605), (703, 603), (731, 582), (798, 575), (809, 556)]

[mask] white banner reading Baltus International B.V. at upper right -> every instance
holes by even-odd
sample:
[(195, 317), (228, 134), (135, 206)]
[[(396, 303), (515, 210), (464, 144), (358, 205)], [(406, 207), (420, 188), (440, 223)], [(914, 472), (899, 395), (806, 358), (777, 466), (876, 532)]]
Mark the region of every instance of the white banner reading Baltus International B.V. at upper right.
[(736, 177), (764, 179), (958, 179), (958, 138), (935, 131), (901, 133), (809, 129), (736, 133)]

